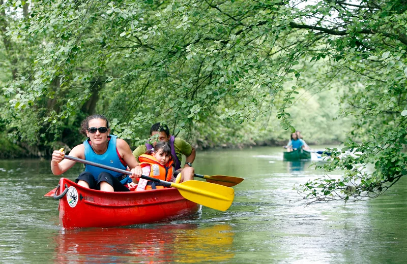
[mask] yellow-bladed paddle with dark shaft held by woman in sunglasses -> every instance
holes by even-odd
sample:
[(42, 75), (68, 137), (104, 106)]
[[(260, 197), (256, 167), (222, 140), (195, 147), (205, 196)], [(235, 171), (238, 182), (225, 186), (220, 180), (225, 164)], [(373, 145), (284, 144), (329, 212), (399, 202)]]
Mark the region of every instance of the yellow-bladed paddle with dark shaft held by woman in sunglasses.
[[(76, 162), (88, 164), (91, 166), (100, 167), (100, 168), (110, 170), (113, 172), (119, 172), (119, 173), (131, 175), (131, 172), (129, 172), (129, 171), (113, 168), (113, 167), (99, 164), (96, 162), (92, 162), (89, 160), (84, 160), (81, 158), (76, 158), (76, 157), (72, 157), (72, 156), (68, 156), (68, 155), (65, 155), (65, 158), (76, 161)], [(191, 181), (186, 181), (186, 182), (182, 182), (182, 183), (174, 183), (174, 182), (167, 182), (167, 181), (159, 180), (156, 178), (151, 178), (151, 177), (144, 176), (144, 175), (142, 175), (141, 178), (149, 180), (149, 181), (161, 183), (166, 187), (177, 188), (185, 199), (192, 201), (194, 203), (212, 208), (212, 209), (220, 210), (220, 211), (226, 211), (232, 204), (233, 199), (235, 197), (234, 189), (232, 189), (230, 187), (218, 185), (218, 184), (213, 184), (210, 182), (191, 180)]]

